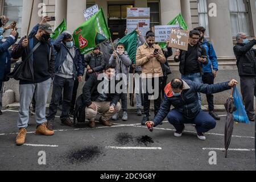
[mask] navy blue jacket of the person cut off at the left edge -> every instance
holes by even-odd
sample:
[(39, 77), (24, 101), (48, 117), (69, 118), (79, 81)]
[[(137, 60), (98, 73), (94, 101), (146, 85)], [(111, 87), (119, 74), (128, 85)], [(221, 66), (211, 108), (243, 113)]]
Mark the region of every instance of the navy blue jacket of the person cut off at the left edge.
[(11, 56), (9, 53), (9, 47), (15, 43), (15, 40), (11, 37), (7, 38), (5, 42), (0, 41), (0, 80), (5, 81), (5, 72), (11, 71)]

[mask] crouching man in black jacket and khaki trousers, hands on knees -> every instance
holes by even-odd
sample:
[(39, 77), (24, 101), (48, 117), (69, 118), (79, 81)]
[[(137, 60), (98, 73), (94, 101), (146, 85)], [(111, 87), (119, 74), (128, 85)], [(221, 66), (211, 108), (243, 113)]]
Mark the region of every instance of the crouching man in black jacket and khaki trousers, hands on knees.
[(121, 110), (118, 102), (120, 96), (115, 90), (115, 68), (107, 65), (103, 74), (104, 78), (98, 79), (100, 75), (93, 73), (82, 89), (82, 101), (86, 106), (85, 115), (91, 128), (96, 126), (97, 113), (101, 115), (100, 123), (110, 127), (112, 124), (109, 119)]

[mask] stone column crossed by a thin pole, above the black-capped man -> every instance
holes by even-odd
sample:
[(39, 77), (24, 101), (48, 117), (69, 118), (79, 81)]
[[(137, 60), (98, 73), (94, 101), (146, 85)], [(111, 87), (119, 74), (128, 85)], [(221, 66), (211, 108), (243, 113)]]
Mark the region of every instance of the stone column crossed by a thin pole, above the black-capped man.
[[(40, 3), (43, 3), (43, 0), (34, 0), (29, 32), (32, 30), (32, 28), (35, 26), (36, 23), (40, 23), (40, 21), (42, 20), (42, 16), (39, 16), (39, 10), (42, 9), (42, 6), (38, 7)], [(31, 14), (31, 6), (32, 6), (31, 0), (23, 0), (22, 31), (21, 31), (22, 35), (21, 36), (27, 35), (30, 14)]]

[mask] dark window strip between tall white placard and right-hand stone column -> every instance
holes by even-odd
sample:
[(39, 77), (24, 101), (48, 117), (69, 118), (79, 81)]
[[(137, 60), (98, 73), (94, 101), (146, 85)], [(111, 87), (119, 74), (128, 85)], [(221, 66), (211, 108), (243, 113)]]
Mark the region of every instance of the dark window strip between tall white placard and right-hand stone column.
[(147, 7), (150, 7), (150, 28), (160, 25), (159, 2), (148, 2)]

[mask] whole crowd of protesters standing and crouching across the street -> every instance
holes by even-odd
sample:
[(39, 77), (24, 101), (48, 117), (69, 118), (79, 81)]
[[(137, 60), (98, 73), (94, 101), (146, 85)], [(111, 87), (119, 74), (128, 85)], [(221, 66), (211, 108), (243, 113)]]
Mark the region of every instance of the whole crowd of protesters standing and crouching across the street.
[[(118, 43), (118, 40), (114, 42), (114, 47), (110, 41), (106, 41), (87, 55), (81, 55), (70, 32), (64, 31), (55, 40), (50, 38), (53, 31), (47, 23), (48, 20), (47, 17), (43, 18), (30, 35), (24, 36), (16, 43), (18, 33), (14, 24), (6, 26), (8, 18), (0, 16), (1, 90), (3, 82), (9, 81), (7, 75), (11, 70), (11, 57), (26, 63), (19, 76), (19, 133), (16, 137), (18, 146), (24, 144), (26, 139), (31, 102), (37, 123), (36, 134), (54, 134), (60, 101), (61, 125), (74, 125), (72, 117), (76, 114), (77, 88), (83, 77), (85, 84), (82, 85), (82, 95), (79, 99), (89, 127), (96, 127), (97, 114), (100, 114), (99, 122), (107, 127), (112, 126), (111, 120), (128, 120), (127, 90), (133, 86), (129, 73), (135, 73), (140, 75), (137, 81), (139, 92), (134, 94), (137, 115), (142, 116), (141, 124), (150, 123), (156, 127), (167, 117), (176, 129), (175, 137), (181, 137), (184, 124), (191, 123), (195, 125), (200, 140), (205, 140), (204, 133), (214, 129), (216, 120), (220, 120), (214, 113), (213, 94), (238, 84), (236, 80), (214, 84), (218, 71), (217, 56), (213, 44), (204, 38), (204, 27), (197, 27), (189, 32), (188, 51), (177, 49), (175, 52), (168, 41), (163, 49), (156, 44), (154, 32), (148, 31), (144, 37), (137, 29), (137, 55), (133, 63), (125, 51), (125, 45)], [(3, 33), (9, 29), (10, 36), (3, 42)], [(255, 44), (255, 39), (250, 42), (245, 34), (239, 33), (237, 45), (234, 47), (241, 77), (242, 96), (250, 121), (254, 121), (253, 96), (256, 96), (256, 50), (253, 49)], [(10, 54), (9, 48), (13, 45)], [(168, 59), (172, 55), (174, 61), (179, 62), (181, 77), (168, 83), (168, 76), (171, 75)], [(117, 85), (121, 85), (121, 92), (115, 89)], [(51, 86), (51, 103), (46, 115)], [(209, 113), (201, 110), (200, 93), (207, 94)], [(151, 100), (154, 100), (154, 119), (150, 119)], [(2, 103), (2, 93), (0, 101)], [(174, 109), (171, 110), (171, 106), (174, 106)], [(119, 118), (121, 110), (122, 116)]]

